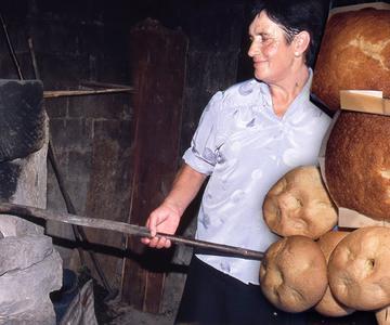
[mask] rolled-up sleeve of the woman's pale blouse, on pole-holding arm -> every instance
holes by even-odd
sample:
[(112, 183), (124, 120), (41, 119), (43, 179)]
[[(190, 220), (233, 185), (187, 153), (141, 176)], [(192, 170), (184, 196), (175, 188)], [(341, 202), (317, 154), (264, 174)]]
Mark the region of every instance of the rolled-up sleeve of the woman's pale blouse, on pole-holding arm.
[(202, 114), (199, 125), (183, 155), (185, 164), (204, 174), (211, 174), (217, 162), (218, 118), (222, 104), (222, 92), (217, 92)]

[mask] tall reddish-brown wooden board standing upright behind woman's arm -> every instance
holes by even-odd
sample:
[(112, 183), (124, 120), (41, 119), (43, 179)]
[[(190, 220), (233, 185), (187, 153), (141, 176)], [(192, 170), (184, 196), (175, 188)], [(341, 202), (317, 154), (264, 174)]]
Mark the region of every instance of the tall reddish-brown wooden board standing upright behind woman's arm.
[[(143, 225), (169, 191), (180, 161), (187, 38), (146, 20), (131, 31), (130, 49), (136, 125), (129, 221)], [(122, 300), (158, 313), (172, 250), (147, 249), (136, 237), (127, 244)]]

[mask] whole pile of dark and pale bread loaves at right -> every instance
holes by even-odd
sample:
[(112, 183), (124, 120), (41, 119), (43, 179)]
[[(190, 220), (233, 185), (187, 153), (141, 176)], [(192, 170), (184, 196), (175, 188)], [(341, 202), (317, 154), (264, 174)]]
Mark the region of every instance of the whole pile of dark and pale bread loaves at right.
[[(312, 91), (337, 110), (339, 91), (351, 89), (390, 96), (390, 10), (340, 12), (327, 23)], [(378, 323), (390, 323), (390, 227), (334, 230), (335, 205), (390, 221), (389, 130), (388, 116), (341, 110), (326, 144), (327, 186), (307, 166), (269, 191), (264, 220), (283, 238), (265, 252), (260, 285), (277, 308), (326, 316), (378, 311)]]

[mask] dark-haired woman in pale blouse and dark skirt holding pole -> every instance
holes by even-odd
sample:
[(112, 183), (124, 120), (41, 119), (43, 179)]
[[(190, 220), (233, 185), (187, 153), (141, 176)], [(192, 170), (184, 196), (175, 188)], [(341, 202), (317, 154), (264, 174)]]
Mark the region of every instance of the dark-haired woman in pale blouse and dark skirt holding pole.
[[(326, 8), (327, 9), (327, 8)], [(277, 239), (266, 227), (262, 202), (288, 170), (316, 164), (329, 117), (310, 98), (310, 64), (325, 9), (313, 0), (264, 0), (249, 26), (255, 79), (213, 95), (204, 110), (184, 165), (146, 225), (174, 233), (180, 218), (209, 177), (196, 237), (264, 251)], [(144, 244), (169, 247), (166, 238)], [(260, 262), (196, 253), (177, 323), (283, 324), (259, 288)]]

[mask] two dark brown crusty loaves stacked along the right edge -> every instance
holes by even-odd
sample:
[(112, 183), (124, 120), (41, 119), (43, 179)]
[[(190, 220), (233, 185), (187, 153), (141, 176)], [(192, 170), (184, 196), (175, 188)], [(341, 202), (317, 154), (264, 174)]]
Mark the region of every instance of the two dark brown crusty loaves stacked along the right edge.
[[(338, 109), (339, 91), (351, 89), (390, 96), (390, 10), (340, 12), (326, 25), (312, 91)], [(389, 130), (390, 117), (340, 112), (325, 154), (326, 182), (339, 207), (390, 219)]]

